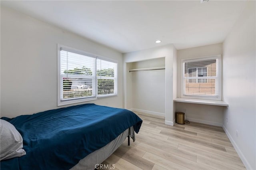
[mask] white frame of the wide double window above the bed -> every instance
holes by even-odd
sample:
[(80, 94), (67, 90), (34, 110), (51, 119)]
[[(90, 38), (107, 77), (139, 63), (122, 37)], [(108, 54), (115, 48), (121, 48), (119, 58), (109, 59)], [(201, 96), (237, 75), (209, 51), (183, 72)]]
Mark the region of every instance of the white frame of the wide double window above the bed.
[[(60, 58), (60, 51), (61, 49), (63, 50), (68, 50), (69, 52), (72, 52), (72, 53), (77, 53), (77, 54), (81, 54), (81, 55), (86, 55), (88, 57), (93, 57), (96, 59), (96, 62), (95, 62), (95, 76), (94, 76), (94, 89), (92, 90), (93, 94), (95, 94), (95, 96), (92, 96), (92, 97), (83, 97), (83, 98), (77, 98), (77, 99), (64, 99), (62, 100), (61, 99), (61, 96), (60, 95), (63, 95), (63, 84), (61, 83), (61, 79), (63, 77), (62, 73), (61, 73), (61, 58)], [(65, 50), (65, 51), (66, 51)], [(116, 93), (115, 94), (108, 94), (108, 95), (101, 95), (101, 96), (97, 96), (97, 91), (98, 91), (98, 84), (97, 84), (97, 59), (102, 59), (102, 60), (105, 60), (105, 61), (110, 61), (110, 62), (113, 62), (113, 63), (116, 63), (117, 66), (116, 66)], [(110, 59), (108, 57), (103, 57), (103, 56), (100, 56), (100, 55), (96, 55), (96, 54), (93, 54), (93, 53), (89, 53), (89, 52), (86, 52), (86, 51), (82, 51), (82, 50), (79, 50), (79, 49), (75, 49), (75, 48), (72, 48), (72, 47), (68, 47), (68, 46), (65, 46), (65, 45), (61, 45), (61, 44), (57, 44), (57, 63), (58, 63), (58, 68), (57, 68), (57, 106), (63, 106), (63, 105), (70, 105), (70, 104), (75, 104), (75, 103), (82, 103), (82, 102), (87, 102), (87, 101), (94, 101), (94, 100), (98, 100), (98, 99), (102, 99), (102, 98), (109, 98), (109, 97), (116, 97), (118, 96), (118, 61), (117, 60), (114, 60), (114, 59)], [(75, 75), (75, 77), (79, 77), (80, 75)], [(81, 76), (80, 76), (81, 77)], [(88, 76), (86, 76), (88, 77)], [(85, 78), (86, 78), (85, 77)], [(62, 88), (61, 88), (62, 87)]]

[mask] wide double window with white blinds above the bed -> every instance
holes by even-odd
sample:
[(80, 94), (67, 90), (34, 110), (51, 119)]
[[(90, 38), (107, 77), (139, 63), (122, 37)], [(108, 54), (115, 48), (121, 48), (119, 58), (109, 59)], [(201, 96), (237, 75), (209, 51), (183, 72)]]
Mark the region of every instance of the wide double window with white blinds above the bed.
[(117, 95), (117, 62), (58, 45), (58, 106)]

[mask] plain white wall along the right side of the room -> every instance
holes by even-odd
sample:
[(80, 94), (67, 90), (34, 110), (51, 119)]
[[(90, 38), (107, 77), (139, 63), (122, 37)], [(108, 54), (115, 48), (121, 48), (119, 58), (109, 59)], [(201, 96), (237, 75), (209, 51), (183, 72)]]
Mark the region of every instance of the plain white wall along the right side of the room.
[(256, 170), (256, 3), (247, 5), (223, 43), (223, 128), (246, 168)]

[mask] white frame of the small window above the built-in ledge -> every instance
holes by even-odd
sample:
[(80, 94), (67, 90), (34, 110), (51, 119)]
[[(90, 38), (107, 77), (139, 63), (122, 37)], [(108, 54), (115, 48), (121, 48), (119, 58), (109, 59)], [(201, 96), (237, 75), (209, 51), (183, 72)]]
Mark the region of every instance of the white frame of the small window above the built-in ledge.
[[(218, 73), (216, 73), (216, 77), (218, 80), (218, 89), (217, 89), (217, 95), (216, 96), (210, 96), (210, 95), (189, 95), (185, 94), (185, 88), (186, 88), (186, 80), (184, 79), (184, 62), (189, 61), (204, 61), (209, 59), (218, 59), (218, 63), (216, 63), (216, 67), (218, 69)], [(199, 68), (199, 67), (195, 67)], [(217, 70), (216, 70), (217, 71)], [(198, 73), (198, 69), (196, 69), (196, 74)], [(207, 69), (207, 75), (208, 75), (208, 69)], [(196, 75), (198, 76), (198, 75)], [(207, 77), (206, 77), (207, 79)], [(207, 80), (206, 80), (207, 81)], [(196, 83), (198, 83), (196, 79)], [(210, 55), (210, 56), (203, 56), (203, 57), (194, 57), (194, 58), (184, 58), (181, 60), (181, 97), (182, 98), (190, 98), (190, 99), (206, 99), (206, 100), (222, 100), (222, 58), (221, 55)]]

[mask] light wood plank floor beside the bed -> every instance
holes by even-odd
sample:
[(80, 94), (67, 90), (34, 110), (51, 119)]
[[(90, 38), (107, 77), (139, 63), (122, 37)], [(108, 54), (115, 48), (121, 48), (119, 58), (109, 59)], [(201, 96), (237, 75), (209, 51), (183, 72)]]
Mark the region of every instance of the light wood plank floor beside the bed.
[[(145, 113), (136, 141), (127, 140), (104, 164), (115, 170), (246, 169), (222, 127), (190, 123), (164, 125), (164, 118)], [(113, 167), (112, 167), (113, 169)]]

